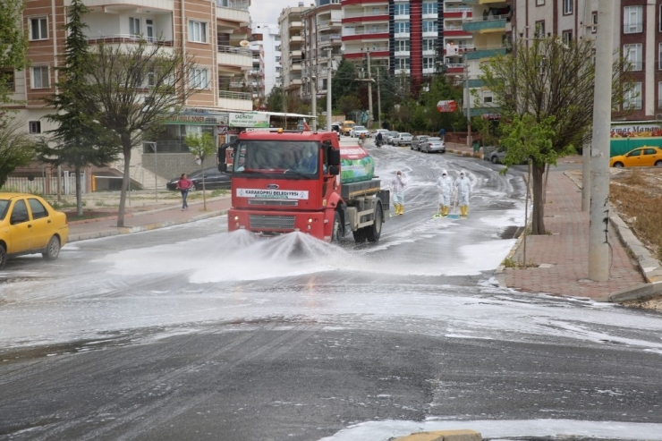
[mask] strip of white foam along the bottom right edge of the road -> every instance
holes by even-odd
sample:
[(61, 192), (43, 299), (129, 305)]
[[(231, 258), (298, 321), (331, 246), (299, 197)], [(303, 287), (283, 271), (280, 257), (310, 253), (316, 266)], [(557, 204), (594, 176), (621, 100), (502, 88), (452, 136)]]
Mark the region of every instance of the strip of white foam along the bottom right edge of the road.
[(596, 437), (617, 440), (662, 440), (662, 424), (582, 421), (582, 420), (426, 420), (426, 421), (369, 421), (344, 428), (320, 441), (388, 441), (415, 432), (435, 430), (470, 429), (480, 432), (483, 438), (504, 437)]

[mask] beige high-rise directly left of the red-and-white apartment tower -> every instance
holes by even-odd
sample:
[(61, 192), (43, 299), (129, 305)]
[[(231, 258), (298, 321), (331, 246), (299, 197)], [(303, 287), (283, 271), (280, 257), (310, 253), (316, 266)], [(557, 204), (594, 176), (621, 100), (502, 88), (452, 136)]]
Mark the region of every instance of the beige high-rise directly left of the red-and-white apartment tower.
[(328, 72), (335, 72), (343, 53), (343, 10), (340, 0), (318, 0), (314, 8), (303, 13), (302, 98), (327, 94)]

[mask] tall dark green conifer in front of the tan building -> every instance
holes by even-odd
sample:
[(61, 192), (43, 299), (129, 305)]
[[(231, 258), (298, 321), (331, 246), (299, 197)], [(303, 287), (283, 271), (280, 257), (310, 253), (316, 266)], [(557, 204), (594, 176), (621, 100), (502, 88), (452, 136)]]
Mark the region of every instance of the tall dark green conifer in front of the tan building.
[(55, 114), (46, 117), (57, 128), (47, 131), (52, 137), (41, 140), (37, 148), (42, 162), (73, 167), (78, 216), (83, 214), (81, 171), (88, 165), (106, 166), (114, 161), (119, 145), (115, 132), (103, 127), (85, 106), (90, 88), (86, 78), (89, 45), (84, 34), (88, 26), (82, 21), (82, 15), (87, 12), (82, 0), (72, 0), (67, 8), (64, 63), (57, 68), (58, 93), (46, 100), (55, 109)]

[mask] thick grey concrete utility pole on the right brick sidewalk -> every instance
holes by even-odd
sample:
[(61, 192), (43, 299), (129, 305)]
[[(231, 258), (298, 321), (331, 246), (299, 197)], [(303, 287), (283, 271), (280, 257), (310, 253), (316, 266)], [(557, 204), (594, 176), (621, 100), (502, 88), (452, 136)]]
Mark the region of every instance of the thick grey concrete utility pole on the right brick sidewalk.
[(589, 278), (609, 280), (609, 131), (614, 2), (598, 2), (593, 140), (590, 148)]

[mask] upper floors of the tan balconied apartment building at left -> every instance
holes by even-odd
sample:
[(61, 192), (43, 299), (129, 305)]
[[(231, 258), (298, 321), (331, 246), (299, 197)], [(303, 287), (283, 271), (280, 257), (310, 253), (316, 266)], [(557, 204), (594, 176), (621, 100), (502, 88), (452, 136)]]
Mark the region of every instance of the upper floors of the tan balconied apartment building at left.
[[(64, 58), (64, 22), (67, 0), (33, 0), (26, 4), (23, 25), (28, 31), (30, 69), (13, 72), (13, 98), (25, 104), (15, 107), (28, 121), (32, 133), (53, 129), (43, 116), (52, 112), (43, 101), (55, 93), (55, 68)], [(132, 44), (140, 38), (149, 45), (183, 47), (199, 64), (196, 87), (187, 106), (252, 110), (249, 96), (235, 95), (223, 87), (242, 79), (252, 67), (250, 50), (240, 46), (248, 37), (238, 32), (248, 25), (249, 0), (130, 0), (85, 2), (83, 19), (89, 44)]]

